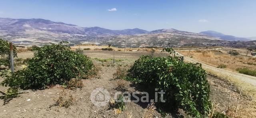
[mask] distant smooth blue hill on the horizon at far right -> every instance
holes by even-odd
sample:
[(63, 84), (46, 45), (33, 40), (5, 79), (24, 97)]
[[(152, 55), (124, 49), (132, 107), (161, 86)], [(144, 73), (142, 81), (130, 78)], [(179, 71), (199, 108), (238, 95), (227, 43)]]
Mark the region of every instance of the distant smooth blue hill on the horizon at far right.
[(202, 31), (200, 33), (206, 34), (206, 35), (209, 35), (209, 36), (212, 36), (212, 37), (218, 37), (220, 39), (224, 39), (224, 40), (227, 40), (227, 41), (250, 41), (250, 39), (247, 39), (247, 38), (235, 37), (235, 36), (232, 36), (232, 35), (225, 35), (223, 33), (220, 33), (220, 32), (217, 32), (217, 31), (211, 31), (211, 30)]

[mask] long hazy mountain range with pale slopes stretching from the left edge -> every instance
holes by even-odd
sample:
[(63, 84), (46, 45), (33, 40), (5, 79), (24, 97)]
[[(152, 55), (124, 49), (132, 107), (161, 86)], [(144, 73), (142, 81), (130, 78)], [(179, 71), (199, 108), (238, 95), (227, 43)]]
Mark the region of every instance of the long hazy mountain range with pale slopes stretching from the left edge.
[[(238, 39), (225, 37), (214, 31), (192, 33), (176, 29), (146, 31), (138, 28), (109, 30), (100, 27), (80, 27), (63, 22), (52, 22), (44, 19), (0, 18), (0, 38), (19, 45), (43, 45), (59, 41), (70, 41), (71, 44), (94, 43), (99, 45), (112, 43), (123, 47), (125, 38), (130, 47), (164, 47), (182, 45), (222, 45), (225, 40)], [(246, 39), (243, 39), (246, 40)]]

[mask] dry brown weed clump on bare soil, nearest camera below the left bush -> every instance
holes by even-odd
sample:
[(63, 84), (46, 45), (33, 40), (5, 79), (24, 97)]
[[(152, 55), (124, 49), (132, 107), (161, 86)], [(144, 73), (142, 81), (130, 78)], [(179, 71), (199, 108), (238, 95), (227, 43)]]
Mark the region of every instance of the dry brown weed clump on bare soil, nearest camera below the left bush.
[(71, 93), (67, 93), (66, 90), (60, 92), (60, 96), (56, 100), (56, 105), (60, 108), (62, 106), (68, 108), (68, 106), (74, 103), (74, 97)]

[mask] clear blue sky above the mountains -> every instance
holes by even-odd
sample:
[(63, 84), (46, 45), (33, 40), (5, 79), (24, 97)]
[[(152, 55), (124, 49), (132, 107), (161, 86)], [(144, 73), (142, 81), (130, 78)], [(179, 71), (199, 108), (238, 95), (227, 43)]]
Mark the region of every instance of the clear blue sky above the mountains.
[(256, 36), (256, 0), (0, 0), (0, 4), (1, 18), (43, 18), (111, 30), (174, 28)]

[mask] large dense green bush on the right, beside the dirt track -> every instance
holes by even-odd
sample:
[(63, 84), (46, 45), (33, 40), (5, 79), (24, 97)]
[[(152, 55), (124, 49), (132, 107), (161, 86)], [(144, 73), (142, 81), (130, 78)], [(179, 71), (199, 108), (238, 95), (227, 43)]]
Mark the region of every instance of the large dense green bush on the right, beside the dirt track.
[(142, 56), (129, 71), (131, 75), (126, 80), (148, 85), (151, 92), (154, 88), (166, 92), (166, 102), (158, 102), (162, 107), (182, 108), (196, 118), (208, 115), (211, 109), (210, 85), (206, 72), (198, 63), (183, 63), (179, 57)]

